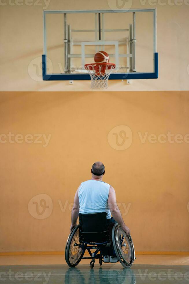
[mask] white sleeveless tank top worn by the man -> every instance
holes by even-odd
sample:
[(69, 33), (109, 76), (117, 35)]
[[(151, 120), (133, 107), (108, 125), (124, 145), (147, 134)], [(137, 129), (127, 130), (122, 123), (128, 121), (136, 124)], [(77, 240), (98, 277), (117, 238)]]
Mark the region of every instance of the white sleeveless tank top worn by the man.
[(79, 196), (79, 213), (91, 214), (106, 212), (107, 219), (111, 218), (108, 207), (108, 194), (110, 185), (103, 181), (90, 179), (81, 183)]

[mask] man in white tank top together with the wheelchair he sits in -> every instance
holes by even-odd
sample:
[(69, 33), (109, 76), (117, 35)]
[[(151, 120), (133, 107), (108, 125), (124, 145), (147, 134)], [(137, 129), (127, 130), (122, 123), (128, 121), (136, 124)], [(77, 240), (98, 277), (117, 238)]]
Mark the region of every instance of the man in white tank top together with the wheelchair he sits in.
[[(66, 262), (73, 267), (81, 258), (92, 258), (92, 268), (94, 259), (98, 258), (100, 265), (102, 261), (120, 261), (124, 267), (130, 267), (134, 262), (134, 246), (130, 230), (125, 225), (117, 206), (115, 190), (103, 182), (103, 163), (94, 163), (91, 173), (92, 178), (82, 182), (75, 193), (71, 212), (71, 234), (65, 250)], [(86, 249), (90, 257), (83, 257)], [(96, 251), (91, 253), (90, 249)]]

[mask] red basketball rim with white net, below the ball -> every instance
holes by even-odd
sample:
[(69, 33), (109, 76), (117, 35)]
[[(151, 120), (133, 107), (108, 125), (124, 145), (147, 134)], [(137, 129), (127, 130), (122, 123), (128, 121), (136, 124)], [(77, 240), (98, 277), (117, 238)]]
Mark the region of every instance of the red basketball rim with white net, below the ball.
[(89, 63), (85, 69), (91, 78), (91, 89), (108, 88), (108, 79), (116, 65), (114, 63)]

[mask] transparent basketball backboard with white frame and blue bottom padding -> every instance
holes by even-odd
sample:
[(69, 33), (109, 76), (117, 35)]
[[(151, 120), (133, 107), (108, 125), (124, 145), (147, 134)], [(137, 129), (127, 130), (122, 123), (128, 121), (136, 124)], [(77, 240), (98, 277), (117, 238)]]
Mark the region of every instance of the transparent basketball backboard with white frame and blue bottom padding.
[(90, 80), (84, 68), (108, 52), (109, 79), (156, 79), (156, 10), (43, 11), (43, 80)]

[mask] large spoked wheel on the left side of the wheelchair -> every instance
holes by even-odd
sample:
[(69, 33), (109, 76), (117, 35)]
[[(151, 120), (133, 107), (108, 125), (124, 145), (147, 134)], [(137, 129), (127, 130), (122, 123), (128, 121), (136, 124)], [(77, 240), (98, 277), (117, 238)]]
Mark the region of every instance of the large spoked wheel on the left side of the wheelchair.
[(70, 267), (75, 267), (84, 255), (79, 245), (81, 245), (81, 243), (79, 242), (79, 225), (77, 225), (71, 231), (66, 243), (65, 259)]

